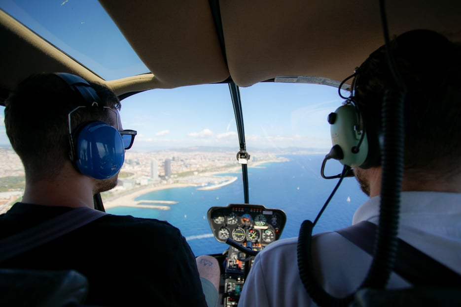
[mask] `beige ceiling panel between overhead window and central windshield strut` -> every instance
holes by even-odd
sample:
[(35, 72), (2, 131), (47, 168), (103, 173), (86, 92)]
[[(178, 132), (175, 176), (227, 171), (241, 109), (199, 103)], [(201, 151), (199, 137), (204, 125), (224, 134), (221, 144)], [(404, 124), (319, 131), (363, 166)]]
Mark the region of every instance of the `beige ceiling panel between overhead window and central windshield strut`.
[(165, 87), (228, 78), (208, 0), (100, 2)]

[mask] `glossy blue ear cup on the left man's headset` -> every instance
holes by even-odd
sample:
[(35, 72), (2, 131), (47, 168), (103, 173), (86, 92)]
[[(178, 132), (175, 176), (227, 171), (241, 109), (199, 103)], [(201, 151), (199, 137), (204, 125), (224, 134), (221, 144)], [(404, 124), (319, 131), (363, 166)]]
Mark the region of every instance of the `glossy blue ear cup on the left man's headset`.
[(90, 122), (75, 131), (74, 163), (86, 176), (103, 180), (115, 176), (125, 160), (120, 132), (103, 122)]

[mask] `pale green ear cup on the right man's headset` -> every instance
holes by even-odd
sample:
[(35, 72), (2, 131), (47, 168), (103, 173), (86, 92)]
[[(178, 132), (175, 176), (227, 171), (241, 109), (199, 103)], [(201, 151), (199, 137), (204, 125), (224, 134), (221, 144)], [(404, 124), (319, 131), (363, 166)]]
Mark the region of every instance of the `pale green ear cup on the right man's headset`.
[[(368, 155), (367, 135), (362, 138), (358, 114), (351, 104), (340, 106), (334, 113), (328, 116), (330, 126), (331, 143), (338, 145), (342, 151), (342, 158), (339, 160), (343, 165), (350, 167), (361, 166)], [(357, 147), (360, 145), (359, 147)]]

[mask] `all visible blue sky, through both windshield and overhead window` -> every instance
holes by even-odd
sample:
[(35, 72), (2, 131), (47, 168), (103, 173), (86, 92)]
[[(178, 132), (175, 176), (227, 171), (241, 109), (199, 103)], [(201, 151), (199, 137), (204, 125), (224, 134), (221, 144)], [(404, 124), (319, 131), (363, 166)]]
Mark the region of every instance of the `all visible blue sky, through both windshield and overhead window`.
[[(95, 0), (2, 0), (0, 6), (107, 80), (148, 71)], [(241, 97), (248, 148), (331, 146), (326, 117), (342, 102), (337, 89), (260, 83), (242, 88)], [(224, 84), (143, 92), (122, 101), (121, 117), (124, 128), (139, 132), (133, 150), (238, 147)], [(0, 145), (9, 144), (3, 120), (0, 130)]]

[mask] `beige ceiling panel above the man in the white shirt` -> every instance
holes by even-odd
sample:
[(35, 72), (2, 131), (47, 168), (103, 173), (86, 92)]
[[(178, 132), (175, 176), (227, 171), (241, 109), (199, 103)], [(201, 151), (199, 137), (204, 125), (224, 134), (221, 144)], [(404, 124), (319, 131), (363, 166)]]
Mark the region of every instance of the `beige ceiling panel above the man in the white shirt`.
[[(461, 31), (461, 1), (388, 0), (391, 35)], [(229, 71), (237, 85), (279, 75), (341, 81), (384, 43), (378, 1), (220, 0)]]

